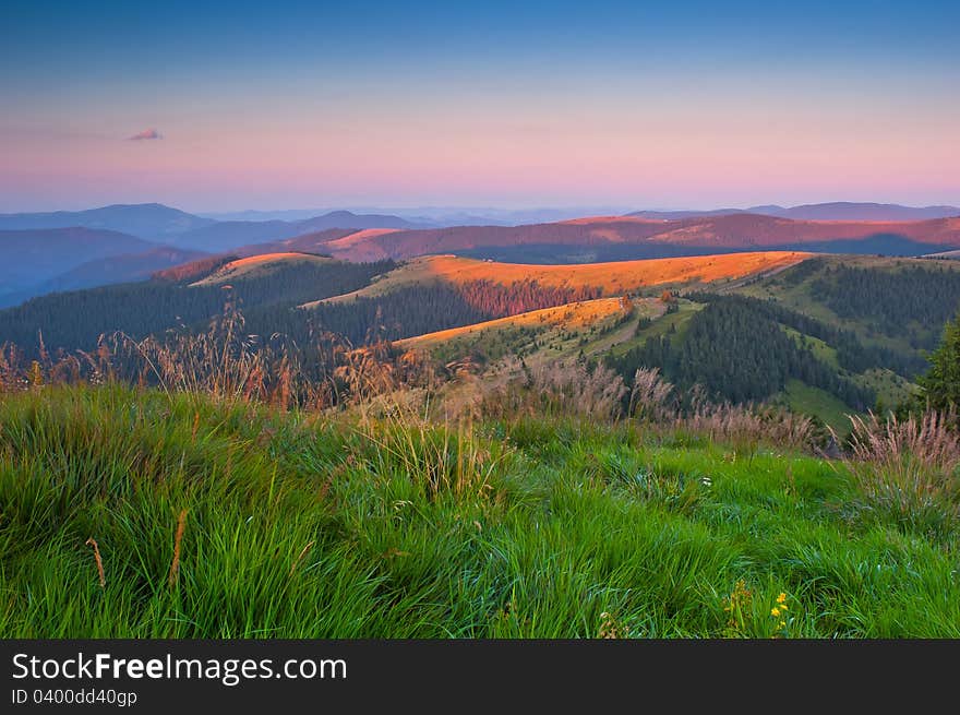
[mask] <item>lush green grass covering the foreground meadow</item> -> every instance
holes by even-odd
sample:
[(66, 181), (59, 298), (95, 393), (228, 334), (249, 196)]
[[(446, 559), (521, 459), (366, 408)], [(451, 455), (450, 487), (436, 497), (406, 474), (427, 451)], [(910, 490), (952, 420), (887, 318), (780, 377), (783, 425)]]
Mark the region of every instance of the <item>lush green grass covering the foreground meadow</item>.
[(629, 425), (0, 397), (3, 637), (960, 637), (958, 547), (837, 464)]

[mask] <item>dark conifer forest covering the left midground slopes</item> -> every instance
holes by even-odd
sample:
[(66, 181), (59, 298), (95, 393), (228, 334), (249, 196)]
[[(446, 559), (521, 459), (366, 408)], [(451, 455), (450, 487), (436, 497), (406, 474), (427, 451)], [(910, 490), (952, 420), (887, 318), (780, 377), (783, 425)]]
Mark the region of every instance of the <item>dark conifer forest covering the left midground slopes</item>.
[(230, 300), (242, 311), (244, 332), (254, 335), (255, 343), (279, 341), (308, 369), (317, 364), (323, 367), (321, 342), (360, 346), (400, 339), (601, 294), (595, 287), (542, 286), (535, 281), (511, 285), (478, 281), (411, 286), (383, 296), (298, 308), (362, 288), (373, 276), (394, 267), (393, 261), (291, 264), (244, 276), (229, 287), (190, 286), (188, 282), (197, 275), (167, 273), (143, 283), (51, 294), (0, 311), (0, 344), (15, 344), (26, 358), (34, 358), (40, 335), (52, 353), (58, 348), (92, 350), (100, 335), (118, 331), (134, 339), (169, 330), (201, 333)]

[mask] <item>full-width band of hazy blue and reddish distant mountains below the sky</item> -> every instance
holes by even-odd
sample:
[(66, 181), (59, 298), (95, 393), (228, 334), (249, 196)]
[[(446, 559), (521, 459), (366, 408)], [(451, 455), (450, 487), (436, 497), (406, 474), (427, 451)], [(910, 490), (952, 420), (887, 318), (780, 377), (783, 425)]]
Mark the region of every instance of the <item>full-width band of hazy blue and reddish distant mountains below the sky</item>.
[[(528, 213), (544, 212), (565, 215), (560, 210)], [(496, 214), (497, 218), (521, 215)], [(293, 221), (215, 221), (156, 203), (4, 214), (0, 215), (0, 306), (51, 290), (139, 281), (179, 263), (228, 252), (307, 251), (349, 261), (458, 253), (520, 263), (758, 249), (914, 255), (960, 248), (960, 218), (951, 216), (960, 216), (960, 208), (829, 203), (748, 211), (643, 211), (626, 216), (553, 218), (553, 223), (437, 228), (393, 214), (349, 211)]]

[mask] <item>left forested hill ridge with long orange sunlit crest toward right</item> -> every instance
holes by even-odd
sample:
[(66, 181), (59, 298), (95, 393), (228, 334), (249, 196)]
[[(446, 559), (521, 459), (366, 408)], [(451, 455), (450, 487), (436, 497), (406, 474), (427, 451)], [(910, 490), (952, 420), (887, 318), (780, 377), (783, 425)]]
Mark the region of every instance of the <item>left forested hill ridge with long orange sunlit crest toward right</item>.
[[(226, 285), (241, 298), (248, 325), (261, 334), (281, 332), (305, 344), (311, 325), (319, 324), (356, 344), (380, 321), (386, 337), (401, 339), (643, 287), (735, 283), (804, 258), (767, 252), (537, 266), (531, 272), (530, 266), (456, 257), (417, 259), (399, 267), (292, 252), (232, 260), (209, 257), (163, 271), (152, 281), (49, 295), (0, 311), (0, 343), (29, 348), (37, 330), (43, 330), (50, 347), (89, 349), (105, 331), (145, 335), (181, 322), (203, 325), (223, 307)], [(193, 270), (200, 267), (204, 272)], [(297, 306), (313, 310), (295, 310)]]

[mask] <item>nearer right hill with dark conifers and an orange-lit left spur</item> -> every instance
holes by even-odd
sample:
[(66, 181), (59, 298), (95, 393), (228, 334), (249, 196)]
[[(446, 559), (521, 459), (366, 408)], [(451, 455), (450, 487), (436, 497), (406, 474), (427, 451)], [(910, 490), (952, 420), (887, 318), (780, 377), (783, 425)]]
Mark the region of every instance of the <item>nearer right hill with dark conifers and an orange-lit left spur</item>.
[[(458, 259), (441, 258), (457, 266)], [(717, 266), (718, 259), (731, 258), (708, 261)], [(412, 261), (357, 295), (388, 299), (401, 289), (405, 269), (408, 278), (427, 281), (429, 267), (429, 261)], [(542, 277), (536, 273), (541, 267), (531, 275)], [(471, 275), (449, 266), (440, 273), (454, 282)], [(608, 287), (622, 289), (612, 281)], [(699, 384), (712, 400), (782, 405), (843, 433), (850, 427), (847, 414), (895, 406), (914, 394), (913, 380), (926, 368), (924, 350), (936, 345), (944, 323), (960, 309), (960, 265), (813, 255), (746, 279), (674, 289), (683, 297), (578, 300), (396, 345), (441, 362), (467, 359), (494, 371), (506, 356), (529, 366), (601, 361), (627, 383), (638, 368), (658, 368), (683, 391)], [(324, 303), (343, 301), (337, 297)]]

